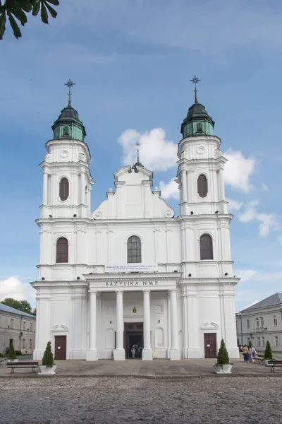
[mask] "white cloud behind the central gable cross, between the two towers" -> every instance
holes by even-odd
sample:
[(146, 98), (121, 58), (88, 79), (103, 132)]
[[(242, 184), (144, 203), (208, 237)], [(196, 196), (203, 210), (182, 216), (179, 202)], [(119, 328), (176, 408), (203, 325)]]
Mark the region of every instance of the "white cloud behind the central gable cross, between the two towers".
[(139, 141), (140, 162), (149, 170), (166, 171), (176, 166), (177, 144), (166, 139), (166, 132), (162, 128), (154, 128), (144, 133), (136, 129), (126, 129), (118, 138), (123, 147), (124, 165), (136, 162), (136, 146)]

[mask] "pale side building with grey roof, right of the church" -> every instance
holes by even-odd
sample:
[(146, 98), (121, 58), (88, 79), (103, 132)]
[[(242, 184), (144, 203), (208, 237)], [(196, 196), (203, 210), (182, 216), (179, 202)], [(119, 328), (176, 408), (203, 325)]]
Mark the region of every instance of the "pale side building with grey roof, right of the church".
[(238, 345), (250, 341), (264, 351), (268, 340), (274, 352), (282, 351), (282, 293), (275, 293), (236, 314)]

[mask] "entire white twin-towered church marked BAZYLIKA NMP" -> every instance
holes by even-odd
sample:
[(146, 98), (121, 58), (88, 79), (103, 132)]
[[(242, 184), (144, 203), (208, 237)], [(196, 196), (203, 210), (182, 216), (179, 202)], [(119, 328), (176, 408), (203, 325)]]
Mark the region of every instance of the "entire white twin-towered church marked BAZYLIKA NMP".
[[(197, 93), (196, 93), (197, 94)], [(71, 97), (70, 97), (71, 99)], [(34, 359), (238, 358), (226, 159), (204, 106), (190, 107), (178, 144), (180, 216), (139, 160), (114, 173), (91, 210), (90, 151), (69, 100), (41, 163)]]

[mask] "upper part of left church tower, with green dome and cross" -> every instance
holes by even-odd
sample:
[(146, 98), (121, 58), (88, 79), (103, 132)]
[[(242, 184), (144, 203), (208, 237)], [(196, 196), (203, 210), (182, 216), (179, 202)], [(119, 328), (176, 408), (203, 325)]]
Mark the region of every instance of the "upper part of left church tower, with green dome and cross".
[(85, 127), (71, 105), (71, 87), (65, 107), (47, 141), (43, 170), (43, 202), (40, 218), (89, 218), (93, 181), (89, 170), (90, 151), (85, 143)]

